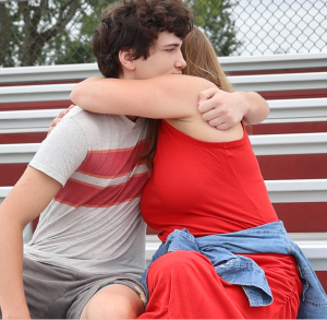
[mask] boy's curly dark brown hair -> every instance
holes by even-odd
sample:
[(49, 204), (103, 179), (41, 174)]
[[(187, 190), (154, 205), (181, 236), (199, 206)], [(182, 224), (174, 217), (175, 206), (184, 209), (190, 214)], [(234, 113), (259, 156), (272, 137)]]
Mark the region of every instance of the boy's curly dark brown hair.
[(159, 32), (184, 38), (192, 29), (193, 19), (192, 10), (181, 0), (123, 0), (109, 5), (102, 11), (93, 38), (100, 72), (106, 78), (118, 78), (120, 50), (133, 49), (133, 59), (147, 59)]

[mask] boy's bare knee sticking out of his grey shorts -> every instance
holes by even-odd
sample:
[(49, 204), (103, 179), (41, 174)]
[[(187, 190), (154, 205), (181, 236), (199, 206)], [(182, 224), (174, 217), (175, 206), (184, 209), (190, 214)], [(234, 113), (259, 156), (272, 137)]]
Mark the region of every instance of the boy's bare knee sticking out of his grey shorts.
[(144, 312), (140, 295), (122, 284), (98, 291), (84, 307), (81, 319), (135, 319)]

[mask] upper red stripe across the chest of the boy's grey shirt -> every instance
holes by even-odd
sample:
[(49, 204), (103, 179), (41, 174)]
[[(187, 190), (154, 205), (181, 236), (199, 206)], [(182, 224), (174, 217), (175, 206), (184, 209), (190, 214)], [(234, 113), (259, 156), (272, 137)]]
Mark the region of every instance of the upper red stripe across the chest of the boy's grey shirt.
[(131, 168), (144, 163), (137, 159), (137, 156), (144, 152), (144, 142), (145, 140), (142, 140), (129, 149), (89, 151), (76, 171), (105, 179), (124, 176), (131, 171)]

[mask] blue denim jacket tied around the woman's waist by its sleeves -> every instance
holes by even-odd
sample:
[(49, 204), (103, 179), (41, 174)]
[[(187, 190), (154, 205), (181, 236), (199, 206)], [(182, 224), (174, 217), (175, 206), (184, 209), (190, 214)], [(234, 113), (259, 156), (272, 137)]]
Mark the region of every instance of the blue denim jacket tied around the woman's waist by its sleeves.
[[(282, 222), (268, 223), (258, 227), (231, 234), (210, 235), (195, 238), (187, 229), (172, 232), (154, 254), (152, 263), (161, 256), (178, 251), (196, 251), (207, 257), (217, 274), (225, 281), (241, 285), (250, 306), (268, 306), (272, 294), (265, 273), (252, 259), (234, 253), (281, 253), (293, 256), (302, 281), (302, 296), (298, 319), (327, 319), (327, 296), (310, 262), (288, 236)], [(150, 265), (149, 265), (150, 266)], [(147, 288), (146, 275), (142, 283)]]

